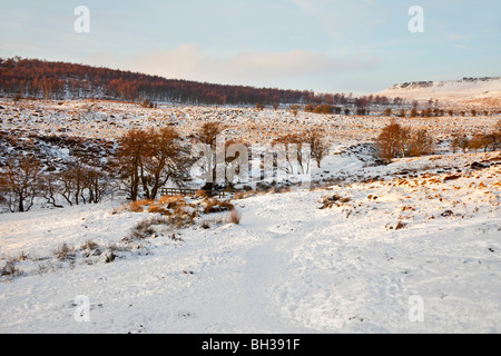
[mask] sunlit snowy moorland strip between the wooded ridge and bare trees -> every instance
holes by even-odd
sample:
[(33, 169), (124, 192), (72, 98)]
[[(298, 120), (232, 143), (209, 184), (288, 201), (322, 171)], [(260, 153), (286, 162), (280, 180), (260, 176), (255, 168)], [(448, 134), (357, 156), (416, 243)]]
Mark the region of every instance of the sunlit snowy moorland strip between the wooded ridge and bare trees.
[[(43, 101), (21, 100), (12, 103), (0, 99), (1, 129), (9, 135), (82, 137), (115, 141), (134, 128), (157, 128), (170, 125), (183, 137), (193, 135), (203, 122), (220, 120), (227, 139), (247, 145), (271, 142), (281, 135), (299, 132), (317, 127), (333, 142), (363, 144), (373, 140), (390, 118), (383, 116), (321, 115), (301, 111), (297, 116), (288, 110), (256, 110), (249, 108), (173, 107), (159, 105), (145, 109), (137, 103), (73, 100)], [(413, 129), (433, 130), (438, 140), (452, 135), (484, 134), (491, 130), (500, 116), (485, 117), (433, 117), (400, 119)]]

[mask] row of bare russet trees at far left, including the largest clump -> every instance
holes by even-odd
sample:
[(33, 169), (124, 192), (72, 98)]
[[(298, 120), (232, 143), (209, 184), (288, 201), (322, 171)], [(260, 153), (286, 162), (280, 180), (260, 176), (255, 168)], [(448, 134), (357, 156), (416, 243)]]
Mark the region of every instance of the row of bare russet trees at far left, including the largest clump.
[(57, 208), (97, 204), (124, 190), (130, 200), (155, 199), (167, 184), (181, 187), (193, 164), (187, 145), (171, 127), (126, 132), (106, 164), (101, 157), (72, 154), (52, 170), (35, 155), (6, 159), (0, 167), (0, 204), (23, 212), (42, 201)]

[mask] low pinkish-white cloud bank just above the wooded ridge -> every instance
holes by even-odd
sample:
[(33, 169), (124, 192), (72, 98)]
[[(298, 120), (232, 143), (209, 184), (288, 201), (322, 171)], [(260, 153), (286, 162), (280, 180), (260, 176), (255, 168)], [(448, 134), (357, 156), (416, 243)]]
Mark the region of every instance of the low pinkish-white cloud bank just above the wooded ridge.
[[(289, 81), (293, 78), (328, 78), (335, 77), (336, 73), (367, 70), (377, 66), (377, 59), (362, 55), (336, 58), (328, 53), (302, 49), (240, 52), (227, 58), (216, 58), (194, 44), (122, 59), (109, 53), (96, 53), (88, 60), (92, 65), (111, 66), (165, 78), (250, 86), (273, 86), (275, 82), (275, 86), (278, 86), (281, 79)], [(298, 87), (304, 85), (298, 82)]]

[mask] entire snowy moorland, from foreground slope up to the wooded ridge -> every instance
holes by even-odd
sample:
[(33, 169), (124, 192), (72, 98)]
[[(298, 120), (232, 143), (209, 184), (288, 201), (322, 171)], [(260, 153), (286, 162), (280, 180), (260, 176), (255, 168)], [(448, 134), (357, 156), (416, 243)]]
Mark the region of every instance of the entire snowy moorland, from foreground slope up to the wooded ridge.
[(189, 145), (215, 119), (261, 149), (320, 128), (330, 151), (312, 189), (242, 187), (218, 206), (239, 224), (208, 198), (175, 212), (170, 198), (131, 206), (120, 190), (0, 214), (0, 333), (501, 332), (501, 156), (451, 150), (493, 132), (493, 111), (399, 118), (432, 132), (435, 152), (383, 166), (384, 116), (0, 99), (0, 165), (33, 154), (63, 171), (112, 155), (132, 128), (173, 126)]

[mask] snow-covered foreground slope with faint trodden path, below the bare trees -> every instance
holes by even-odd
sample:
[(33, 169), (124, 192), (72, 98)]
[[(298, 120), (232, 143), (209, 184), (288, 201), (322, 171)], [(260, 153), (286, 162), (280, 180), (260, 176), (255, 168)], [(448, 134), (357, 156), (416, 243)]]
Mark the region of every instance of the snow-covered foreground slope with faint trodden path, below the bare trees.
[(160, 225), (127, 249), (158, 215), (118, 198), (0, 215), (0, 268), (18, 271), (1, 277), (0, 333), (501, 332), (498, 152), (333, 155), (326, 171), (346, 180), (255, 192), (232, 200), (238, 225)]

